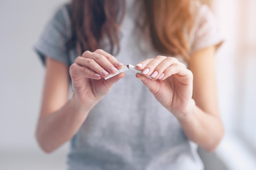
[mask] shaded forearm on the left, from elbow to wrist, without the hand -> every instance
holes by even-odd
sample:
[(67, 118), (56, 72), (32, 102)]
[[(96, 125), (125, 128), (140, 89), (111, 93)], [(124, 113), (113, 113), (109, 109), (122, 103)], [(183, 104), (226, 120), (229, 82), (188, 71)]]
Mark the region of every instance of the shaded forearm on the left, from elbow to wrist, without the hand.
[(96, 103), (81, 106), (75, 95), (58, 111), (40, 116), (36, 138), (41, 148), (49, 153), (70, 140), (79, 130)]

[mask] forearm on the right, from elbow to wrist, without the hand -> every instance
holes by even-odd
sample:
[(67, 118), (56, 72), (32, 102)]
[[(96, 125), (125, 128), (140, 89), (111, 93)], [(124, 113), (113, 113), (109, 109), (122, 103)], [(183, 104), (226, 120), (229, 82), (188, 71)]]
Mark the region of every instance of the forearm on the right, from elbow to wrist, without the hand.
[(213, 151), (224, 133), (221, 119), (202, 111), (195, 104), (189, 112), (178, 117), (187, 137), (205, 150)]

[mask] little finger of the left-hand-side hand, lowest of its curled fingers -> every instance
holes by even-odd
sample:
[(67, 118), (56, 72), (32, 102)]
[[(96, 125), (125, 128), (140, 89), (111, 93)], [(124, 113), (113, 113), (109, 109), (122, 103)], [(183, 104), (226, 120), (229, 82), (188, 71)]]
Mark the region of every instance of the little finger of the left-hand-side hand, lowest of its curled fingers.
[(77, 65), (76, 63), (72, 64), (70, 66), (70, 76), (72, 80), (76, 80), (83, 77), (92, 78), (92, 79), (101, 79), (101, 75), (97, 74), (93, 70), (90, 70), (87, 67), (82, 67), (80, 65)]

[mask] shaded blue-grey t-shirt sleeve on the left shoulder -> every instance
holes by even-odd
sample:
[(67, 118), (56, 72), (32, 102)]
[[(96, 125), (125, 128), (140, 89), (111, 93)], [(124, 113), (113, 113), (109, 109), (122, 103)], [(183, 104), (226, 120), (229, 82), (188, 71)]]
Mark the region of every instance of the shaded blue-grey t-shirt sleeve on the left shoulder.
[(66, 44), (71, 38), (70, 17), (65, 6), (60, 7), (46, 25), (34, 50), (45, 64), (45, 57), (51, 57), (69, 65)]

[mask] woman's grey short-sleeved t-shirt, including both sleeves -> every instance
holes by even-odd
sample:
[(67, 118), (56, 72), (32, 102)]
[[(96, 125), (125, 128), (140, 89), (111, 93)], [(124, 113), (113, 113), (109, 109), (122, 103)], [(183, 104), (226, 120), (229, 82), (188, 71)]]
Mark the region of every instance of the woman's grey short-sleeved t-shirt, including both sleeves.
[[(131, 4), (127, 7), (121, 26), (121, 49), (115, 57), (124, 64), (135, 65), (159, 53), (148, 41), (144, 42), (146, 53), (137, 48)], [(191, 51), (220, 44), (222, 36), (207, 6), (195, 5), (195, 15), (195, 25), (187, 36)], [(70, 65), (78, 56), (76, 48), (67, 50), (70, 37), (70, 17), (63, 6), (46, 26), (36, 52), (43, 61), (49, 56)], [(203, 169), (197, 145), (189, 141), (172, 113), (129, 71), (90, 111), (72, 138), (67, 159), (70, 170)]]

